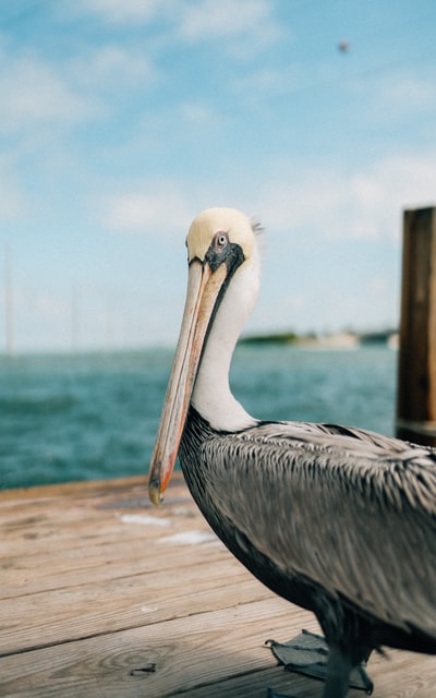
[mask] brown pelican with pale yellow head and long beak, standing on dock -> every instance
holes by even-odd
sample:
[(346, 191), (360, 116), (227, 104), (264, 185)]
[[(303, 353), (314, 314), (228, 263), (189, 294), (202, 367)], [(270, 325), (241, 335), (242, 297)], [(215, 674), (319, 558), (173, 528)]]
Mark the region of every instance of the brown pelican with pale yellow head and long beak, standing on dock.
[(256, 227), (211, 208), (187, 233), (187, 296), (149, 474), (161, 502), (179, 455), (228, 549), (316, 615), (324, 698), (390, 646), (436, 653), (436, 450), (331, 424), (263, 422), (229, 388), (259, 286)]

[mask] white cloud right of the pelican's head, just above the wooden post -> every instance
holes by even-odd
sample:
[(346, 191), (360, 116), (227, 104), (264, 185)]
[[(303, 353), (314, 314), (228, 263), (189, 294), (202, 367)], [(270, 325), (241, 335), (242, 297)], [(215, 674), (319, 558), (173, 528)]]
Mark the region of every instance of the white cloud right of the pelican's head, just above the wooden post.
[(267, 227), (316, 237), (397, 237), (401, 212), (436, 200), (436, 153), (399, 155), (354, 172), (294, 163), (280, 180), (256, 186)]

